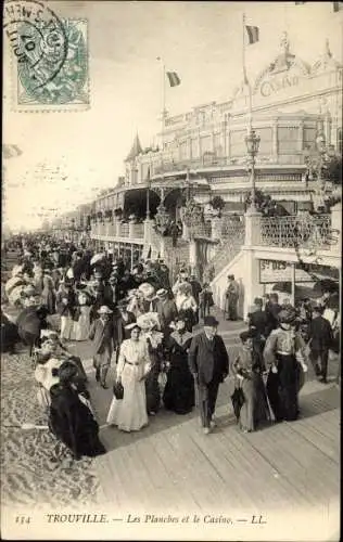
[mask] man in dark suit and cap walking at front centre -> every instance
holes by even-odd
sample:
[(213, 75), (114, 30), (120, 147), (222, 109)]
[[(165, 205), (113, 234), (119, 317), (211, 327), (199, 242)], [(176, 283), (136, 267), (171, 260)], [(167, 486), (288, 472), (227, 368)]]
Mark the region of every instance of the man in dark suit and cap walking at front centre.
[(219, 384), (228, 376), (229, 357), (223, 338), (217, 335), (218, 321), (204, 318), (204, 331), (192, 338), (188, 362), (199, 393), (201, 422), (205, 435), (215, 426), (215, 412)]

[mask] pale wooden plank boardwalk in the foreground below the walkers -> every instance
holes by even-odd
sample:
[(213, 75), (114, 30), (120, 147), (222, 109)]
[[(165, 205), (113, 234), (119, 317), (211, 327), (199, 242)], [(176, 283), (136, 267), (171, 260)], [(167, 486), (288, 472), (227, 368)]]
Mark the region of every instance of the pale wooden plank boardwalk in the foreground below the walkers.
[(225, 389), (209, 436), (196, 415), (166, 412), (138, 434), (103, 428), (103, 441), (114, 448), (97, 460), (104, 501), (118, 514), (327, 506), (340, 492), (340, 393), (334, 385), (306, 386), (298, 421), (253, 434), (237, 428), (223, 404)]

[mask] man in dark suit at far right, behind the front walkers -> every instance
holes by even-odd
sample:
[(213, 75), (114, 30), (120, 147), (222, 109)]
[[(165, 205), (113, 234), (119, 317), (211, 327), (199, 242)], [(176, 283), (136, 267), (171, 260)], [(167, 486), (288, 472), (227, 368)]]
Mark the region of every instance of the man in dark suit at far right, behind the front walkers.
[[(329, 320), (323, 318), (322, 307), (313, 309), (313, 319), (309, 324), (309, 359), (317, 376), (327, 384), (329, 348), (333, 343), (333, 333)], [(319, 366), (320, 359), (320, 366)]]

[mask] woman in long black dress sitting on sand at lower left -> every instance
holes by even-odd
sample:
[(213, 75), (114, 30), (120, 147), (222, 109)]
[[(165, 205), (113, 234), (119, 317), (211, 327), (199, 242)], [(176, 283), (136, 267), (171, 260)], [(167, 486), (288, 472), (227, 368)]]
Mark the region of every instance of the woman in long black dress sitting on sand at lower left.
[(94, 457), (105, 453), (99, 439), (99, 425), (88, 406), (84, 393), (74, 384), (75, 364), (66, 361), (59, 370), (60, 383), (50, 388), (49, 427), (71, 451), (75, 460), (82, 455)]

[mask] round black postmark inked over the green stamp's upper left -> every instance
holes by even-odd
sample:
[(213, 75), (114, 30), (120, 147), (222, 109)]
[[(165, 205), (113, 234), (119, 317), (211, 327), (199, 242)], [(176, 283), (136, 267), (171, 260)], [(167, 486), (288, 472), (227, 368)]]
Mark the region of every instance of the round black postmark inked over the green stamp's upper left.
[(9, 0), (3, 8), (3, 29), (17, 59), (18, 76), (26, 89), (37, 91), (52, 81), (68, 53), (64, 23), (45, 3)]

